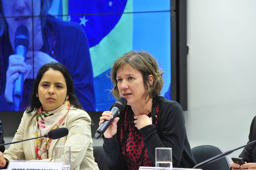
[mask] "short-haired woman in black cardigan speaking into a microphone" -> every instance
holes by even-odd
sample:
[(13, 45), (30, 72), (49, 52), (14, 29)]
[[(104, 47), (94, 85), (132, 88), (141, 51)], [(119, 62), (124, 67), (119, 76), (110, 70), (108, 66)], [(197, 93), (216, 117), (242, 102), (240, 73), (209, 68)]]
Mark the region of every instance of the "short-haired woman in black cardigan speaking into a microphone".
[[(195, 166), (180, 104), (159, 96), (164, 80), (156, 59), (145, 51), (131, 51), (115, 61), (110, 74), (112, 94), (125, 97), (127, 106), (103, 134), (107, 167), (155, 166), (156, 147), (172, 148), (173, 167)], [(112, 117), (104, 111), (99, 125)]]

